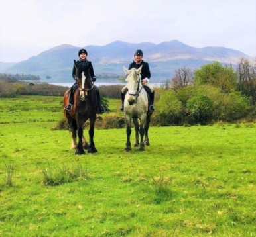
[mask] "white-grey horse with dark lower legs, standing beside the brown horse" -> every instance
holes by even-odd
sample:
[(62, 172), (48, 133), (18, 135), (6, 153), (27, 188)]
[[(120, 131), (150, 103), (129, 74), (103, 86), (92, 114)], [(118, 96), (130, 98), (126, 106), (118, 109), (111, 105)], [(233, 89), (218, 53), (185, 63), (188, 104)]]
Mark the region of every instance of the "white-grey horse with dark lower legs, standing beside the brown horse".
[[(126, 148), (125, 150), (131, 150), (131, 119), (133, 119), (133, 124), (135, 126), (135, 144), (134, 146), (139, 146), (139, 150), (145, 150), (145, 144), (149, 146), (149, 122), (151, 120), (152, 113), (149, 111), (149, 99), (147, 92), (141, 84), (141, 68), (127, 70), (123, 67), (123, 70), (127, 74), (127, 93), (125, 95), (124, 101), (124, 111), (125, 111), (125, 122), (127, 124), (126, 134)], [(139, 134), (141, 136), (141, 141), (139, 142)], [(144, 139), (145, 136), (145, 140)]]

